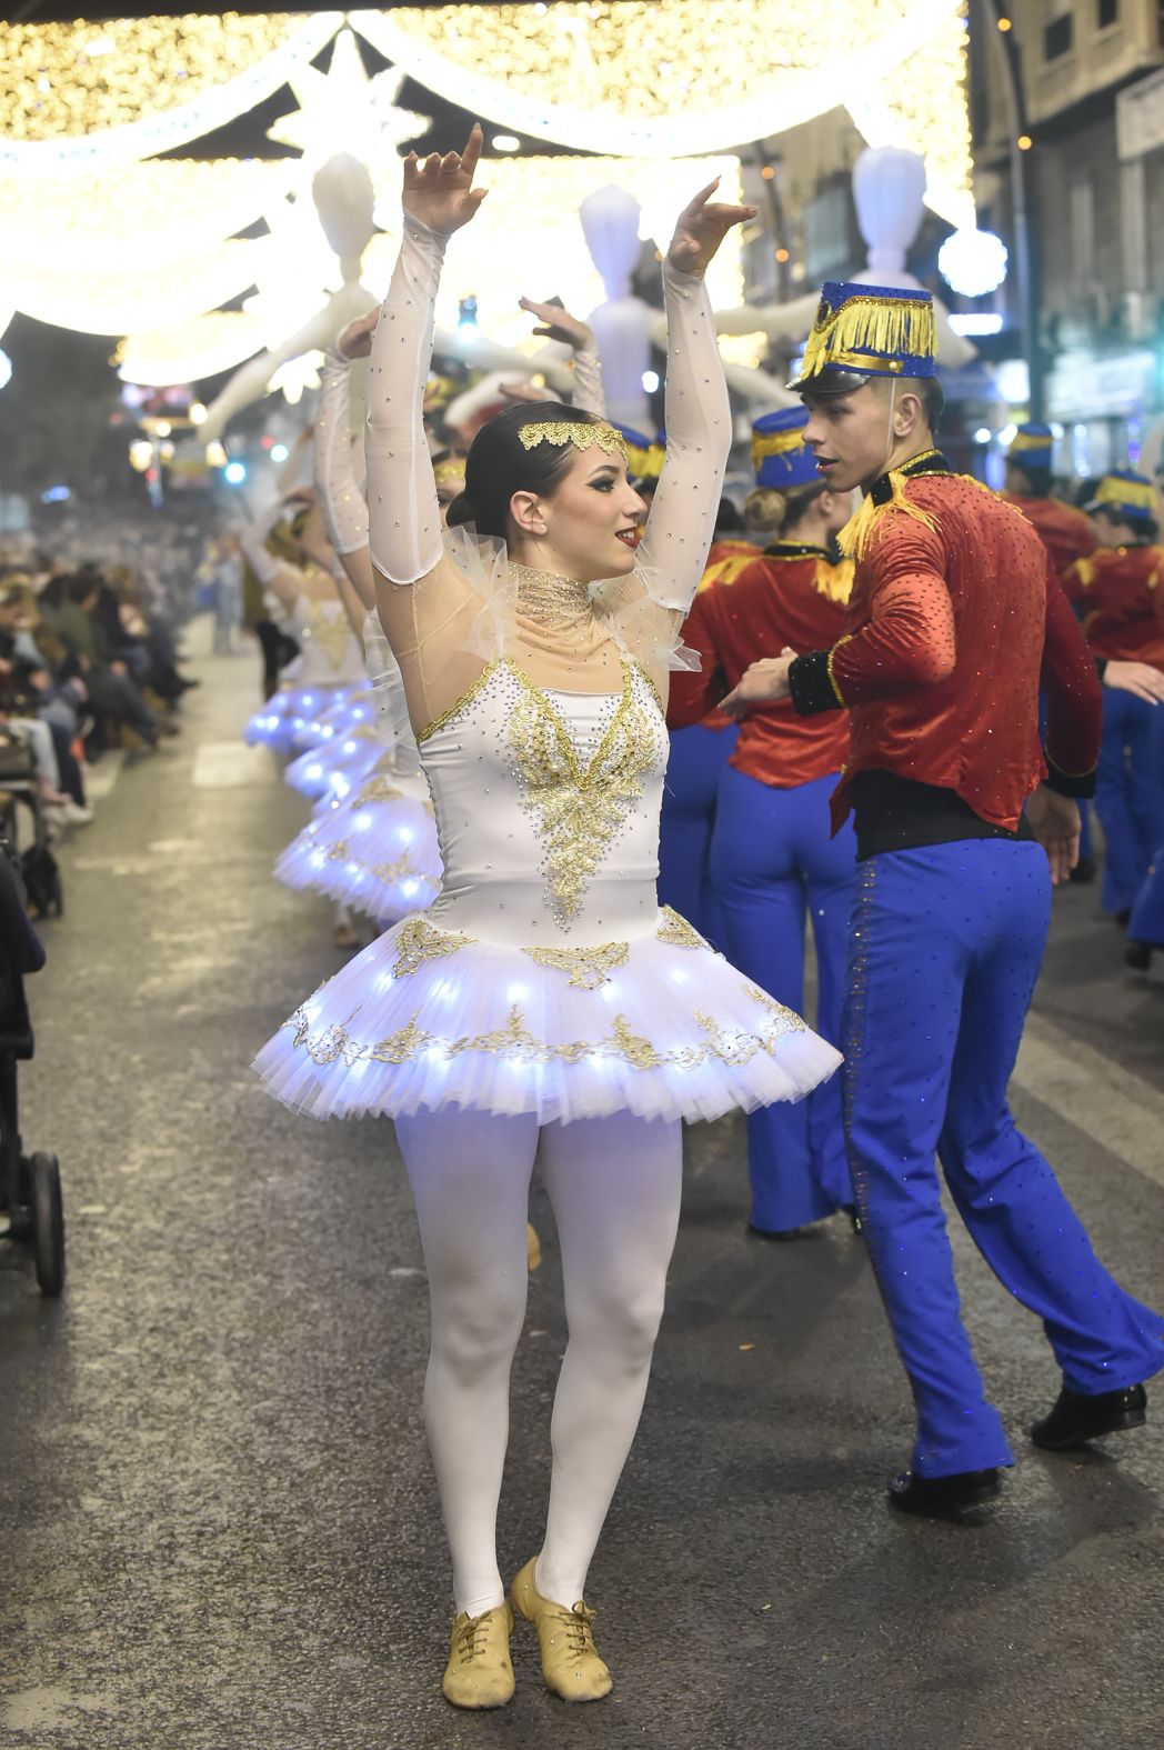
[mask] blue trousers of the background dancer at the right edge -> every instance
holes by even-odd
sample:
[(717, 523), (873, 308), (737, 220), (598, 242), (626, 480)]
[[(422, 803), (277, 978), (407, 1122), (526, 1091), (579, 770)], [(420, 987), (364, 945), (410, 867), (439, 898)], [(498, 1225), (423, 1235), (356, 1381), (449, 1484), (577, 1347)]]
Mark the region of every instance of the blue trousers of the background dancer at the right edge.
[(1104, 912), (1125, 912), (1136, 903), (1152, 852), (1164, 840), (1164, 772), (1152, 737), (1160, 709), (1134, 693), (1103, 690), (1096, 814), (1106, 842)]

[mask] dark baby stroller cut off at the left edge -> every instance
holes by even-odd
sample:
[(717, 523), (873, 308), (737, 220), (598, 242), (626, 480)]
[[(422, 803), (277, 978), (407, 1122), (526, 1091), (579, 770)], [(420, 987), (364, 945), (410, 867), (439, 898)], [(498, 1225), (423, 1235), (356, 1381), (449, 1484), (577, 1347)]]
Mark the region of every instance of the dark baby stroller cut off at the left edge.
[(56, 1155), (26, 1155), (21, 1144), (16, 1068), (33, 1054), (25, 978), (44, 966), (28, 922), (11, 847), (0, 840), (0, 1239), (32, 1248), (42, 1295), (65, 1286), (65, 1209)]

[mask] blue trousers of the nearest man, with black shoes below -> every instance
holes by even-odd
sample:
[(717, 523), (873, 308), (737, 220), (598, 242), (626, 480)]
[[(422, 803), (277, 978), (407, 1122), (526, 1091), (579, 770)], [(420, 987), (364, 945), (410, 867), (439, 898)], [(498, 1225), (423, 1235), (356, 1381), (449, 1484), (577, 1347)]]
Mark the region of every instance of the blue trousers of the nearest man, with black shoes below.
[(961, 840), (858, 870), (845, 1139), (924, 1477), (1013, 1463), (961, 1321), (935, 1153), (978, 1251), (1043, 1320), (1071, 1390), (1117, 1391), (1164, 1367), (1164, 1321), (1099, 1264), (1006, 1104), (1048, 917), (1034, 844)]

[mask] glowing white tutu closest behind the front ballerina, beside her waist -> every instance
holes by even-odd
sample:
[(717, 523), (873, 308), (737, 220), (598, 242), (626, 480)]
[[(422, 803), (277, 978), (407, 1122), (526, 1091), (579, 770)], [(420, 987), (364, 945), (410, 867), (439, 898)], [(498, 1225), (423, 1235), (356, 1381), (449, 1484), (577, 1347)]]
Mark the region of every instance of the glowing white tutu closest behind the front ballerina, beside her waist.
[(432, 905), (441, 854), (424, 777), (376, 772), (347, 802), (331, 802), (275, 864), (287, 887), (310, 887), (387, 928)]

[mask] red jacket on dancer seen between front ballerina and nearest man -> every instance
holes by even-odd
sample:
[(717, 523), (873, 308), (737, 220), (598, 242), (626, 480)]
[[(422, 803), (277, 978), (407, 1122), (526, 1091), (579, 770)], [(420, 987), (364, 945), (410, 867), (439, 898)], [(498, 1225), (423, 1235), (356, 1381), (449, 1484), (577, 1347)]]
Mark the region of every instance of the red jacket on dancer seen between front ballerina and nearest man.
[[(753, 556), (733, 583), (700, 590), (683, 640), (698, 653), (702, 672), (672, 674), (669, 726), (704, 723), (709, 705), (761, 656), (779, 656), (786, 646), (817, 649), (838, 639), (851, 586), (852, 567), (833, 565), (823, 548), (777, 542)], [(838, 772), (847, 747), (844, 712), (800, 718), (791, 700), (781, 700), (747, 714), (728, 763), (761, 784), (791, 789)]]

